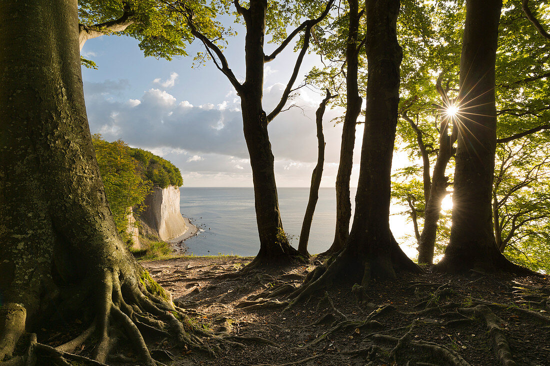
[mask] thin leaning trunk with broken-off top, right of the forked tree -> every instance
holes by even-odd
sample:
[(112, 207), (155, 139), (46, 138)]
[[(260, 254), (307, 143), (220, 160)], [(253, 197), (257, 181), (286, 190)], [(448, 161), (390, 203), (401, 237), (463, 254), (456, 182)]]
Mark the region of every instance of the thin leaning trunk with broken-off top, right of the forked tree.
[(302, 230), (300, 231), (300, 241), (298, 242), (298, 251), (300, 254), (307, 257), (309, 257), (309, 253), (307, 252), (307, 241), (309, 240), (311, 221), (313, 220), (313, 213), (315, 212), (315, 206), (317, 205), (317, 199), (319, 198), (319, 187), (321, 186), (321, 178), (323, 176), (324, 146), (326, 145), (323, 135), (323, 114), (327, 106), (327, 102), (333, 97), (334, 96), (331, 96), (331, 93), (327, 90), (327, 96), (319, 104), (319, 108), (317, 108), (317, 112), (315, 113), (318, 141), (317, 165), (311, 174), (310, 196), (307, 201)]

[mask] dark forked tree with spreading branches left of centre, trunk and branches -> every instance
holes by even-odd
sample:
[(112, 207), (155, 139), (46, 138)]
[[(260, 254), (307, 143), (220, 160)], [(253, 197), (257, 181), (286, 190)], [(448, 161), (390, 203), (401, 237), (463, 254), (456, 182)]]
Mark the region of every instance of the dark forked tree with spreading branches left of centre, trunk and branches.
[[(283, 230), (281, 213), (277, 196), (277, 185), (274, 173), (274, 157), (271, 151), (271, 142), (267, 125), (283, 110), (287, 103), (293, 85), (298, 77), (302, 60), (309, 47), (313, 27), (320, 23), (328, 14), (334, 0), (330, 0), (321, 9), (318, 18), (306, 20), (292, 33), (285, 37), (281, 44), (271, 53), (264, 52), (264, 38), (266, 21), (273, 21), (268, 16), (268, 10), (279, 12), (280, 4), (269, 4), (266, 0), (251, 0), (248, 8), (234, 1), (235, 9), (243, 19), (246, 27), (245, 37), (245, 80), (240, 82), (229, 68), (222, 50), (210, 40), (202, 31), (201, 24), (197, 24), (193, 9), (184, 3), (174, 4), (173, 9), (185, 16), (191, 34), (204, 43), (206, 51), (216, 64), (217, 68), (228, 78), (241, 99), (243, 127), (246, 146), (250, 156), (252, 168), (252, 182), (254, 184), (254, 204), (256, 209), (256, 223), (260, 236), (260, 251), (248, 268), (256, 265), (277, 261), (288, 261), (299, 256), (299, 252), (290, 246), (287, 235)], [(313, 6), (313, 10), (316, 6)], [(318, 13), (318, 12), (317, 12)], [(285, 15), (285, 16), (288, 16)], [(278, 22), (281, 19), (277, 19)], [(278, 24), (280, 26), (280, 24)], [(304, 32), (302, 46), (290, 79), (277, 106), (269, 113), (263, 110), (263, 66), (275, 59), (293, 40)]]

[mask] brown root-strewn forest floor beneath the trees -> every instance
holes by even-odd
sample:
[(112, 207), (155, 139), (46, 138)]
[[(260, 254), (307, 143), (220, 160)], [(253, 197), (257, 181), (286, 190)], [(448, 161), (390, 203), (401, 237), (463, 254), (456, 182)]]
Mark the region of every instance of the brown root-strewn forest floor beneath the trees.
[[(174, 365), (550, 365), (550, 276), (405, 274), (318, 293), (284, 310), (319, 260), (241, 275), (251, 257), (142, 262), (174, 303), (219, 336), (216, 358), (168, 348)], [(157, 342), (153, 348), (169, 347)]]

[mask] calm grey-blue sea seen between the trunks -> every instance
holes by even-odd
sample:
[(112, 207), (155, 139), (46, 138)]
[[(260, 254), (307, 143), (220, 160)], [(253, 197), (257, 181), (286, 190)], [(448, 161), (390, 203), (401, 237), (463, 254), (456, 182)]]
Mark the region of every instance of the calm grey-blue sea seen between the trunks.
[[(309, 188), (279, 187), (277, 192), (283, 228), (297, 248)], [(351, 197), (354, 201), (355, 188), (351, 190)], [(188, 253), (196, 256), (220, 253), (255, 256), (258, 253), (260, 240), (254, 210), (254, 188), (181, 187), (180, 211), (200, 229), (196, 236), (183, 243)], [(405, 219), (390, 220), (396, 238), (403, 234), (405, 224)], [(335, 188), (320, 188), (308, 243), (310, 253), (322, 253), (331, 246), (335, 225)], [(408, 252), (405, 247), (403, 249)]]

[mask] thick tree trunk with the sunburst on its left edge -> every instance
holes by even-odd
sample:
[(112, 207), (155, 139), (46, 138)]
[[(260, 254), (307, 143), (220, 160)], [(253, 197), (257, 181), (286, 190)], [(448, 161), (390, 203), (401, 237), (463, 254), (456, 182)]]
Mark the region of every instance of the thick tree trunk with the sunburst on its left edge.
[(467, 0), (460, 57), (458, 146), (450, 242), (436, 269), (518, 270), (499, 252), (491, 191), (496, 148), (494, 95), (502, 0)]

